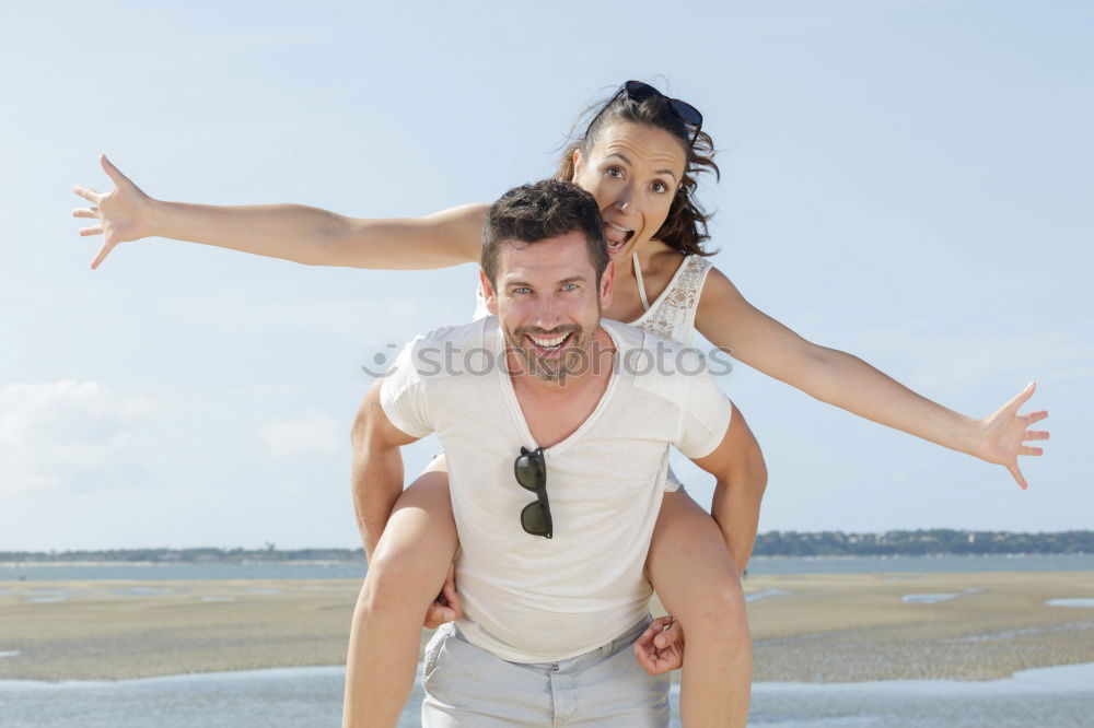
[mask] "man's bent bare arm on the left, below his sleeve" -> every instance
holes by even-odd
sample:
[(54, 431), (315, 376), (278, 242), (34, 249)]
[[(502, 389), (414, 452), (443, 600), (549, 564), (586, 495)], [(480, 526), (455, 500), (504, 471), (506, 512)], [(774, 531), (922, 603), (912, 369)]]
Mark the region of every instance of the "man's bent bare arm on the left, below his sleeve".
[(399, 448), (417, 441), (387, 419), (380, 403), (383, 379), (376, 379), (361, 402), (350, 439), (353, 463), (350, 479), (353, 485), (353, 513), (361, 530), (365, 559), (384, 532), (395, 502), (403, 493), (403, 456)]

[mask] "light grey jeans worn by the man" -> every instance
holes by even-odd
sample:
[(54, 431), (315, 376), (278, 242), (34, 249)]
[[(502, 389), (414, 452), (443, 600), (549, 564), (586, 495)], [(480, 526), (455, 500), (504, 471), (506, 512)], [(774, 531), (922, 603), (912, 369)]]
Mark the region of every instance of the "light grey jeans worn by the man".
[(668, 725), (668, 676), (650, 676), (630, 646), (650, 618), (584, 655), (558, 662), (507, 662), (449, 623), (426, 645), (422, 728)]

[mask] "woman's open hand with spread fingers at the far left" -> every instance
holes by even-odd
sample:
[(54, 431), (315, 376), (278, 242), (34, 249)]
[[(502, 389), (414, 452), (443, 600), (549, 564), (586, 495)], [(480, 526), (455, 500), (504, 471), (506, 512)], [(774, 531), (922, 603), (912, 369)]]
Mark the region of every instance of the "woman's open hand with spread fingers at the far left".
[(94, 204), (72, 210), (72, 216), (98, 220), (97, 225), (82, 228), (80, 235), (105, 235), (103, 247), (91, 263), (93, 270), (98, 268), (98, 263), (103, 262), (118, 243), (137, 240), (151, 234), (152, 198), (110, 164), (105, 154), (100, 157), (100, 163), (114, 181), (113, 190), (103, 193), (80, 185), (72, 187), (73, 192)]

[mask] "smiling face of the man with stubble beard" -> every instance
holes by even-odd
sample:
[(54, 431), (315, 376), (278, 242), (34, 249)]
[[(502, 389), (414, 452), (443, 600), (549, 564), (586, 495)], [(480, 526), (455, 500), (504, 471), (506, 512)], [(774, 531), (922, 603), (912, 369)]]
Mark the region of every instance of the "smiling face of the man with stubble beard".
[(580, 231), (533, 244), (513, 242), (500, 253), (497, 290), (485, 274), (482, 287), (510, 349), (545, 381), (563, 383), (587, 371), (601, 309), (612, 301), (612, 266), (597, 286)]

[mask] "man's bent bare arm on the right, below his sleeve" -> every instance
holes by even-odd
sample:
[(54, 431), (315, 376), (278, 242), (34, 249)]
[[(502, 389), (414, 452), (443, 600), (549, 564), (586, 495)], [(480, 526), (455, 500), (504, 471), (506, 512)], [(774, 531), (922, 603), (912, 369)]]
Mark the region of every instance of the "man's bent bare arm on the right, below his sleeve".
[(736, 407), (730, 407), (733, 415), (722, 442), (713, 451), (693, 461), (718, 480), (710, 515), (722, 530), (737, 572), (744, 574), (756, 544), (767, 466), (748, 423)]

